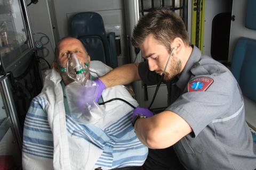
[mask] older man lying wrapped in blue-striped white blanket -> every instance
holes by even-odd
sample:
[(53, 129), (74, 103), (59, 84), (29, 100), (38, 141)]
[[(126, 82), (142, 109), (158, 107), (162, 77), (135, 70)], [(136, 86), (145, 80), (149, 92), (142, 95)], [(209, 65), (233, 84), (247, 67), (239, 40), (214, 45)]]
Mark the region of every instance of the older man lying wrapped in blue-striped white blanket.
[[(65, 91), (74, 81), (65, 72), (70, 53), (75, 53), (77, 59), (90, 68), (87, 79), (97, 81), (97, 77), (110, 71), (99, 61), (90, 62), (90, 56), (78, 39), (68, 37), (60, 41), (54, 68), (46, 71), (43, 90), (31, 101), (26, 116), (23, 169), (133, 169), (141, 166), (148, 149), (134, 133), (131, 106), (120, 100), (101, 105), (104, 115), (96, 123), (78, 123), (71, 116)], [(99, 103), (123, 98), (138, 106), (123, 86), (105, 89), (98, 97)]]

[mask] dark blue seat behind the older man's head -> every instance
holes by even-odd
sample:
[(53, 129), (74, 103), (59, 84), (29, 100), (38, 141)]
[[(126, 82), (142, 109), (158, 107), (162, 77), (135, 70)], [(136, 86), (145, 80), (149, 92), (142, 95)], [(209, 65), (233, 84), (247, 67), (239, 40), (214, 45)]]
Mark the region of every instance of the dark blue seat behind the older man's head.
[(115, 33), (106, 33), (101, 15), (95, 12), (77, 13), (71, 19), (71, 37), (82, 41), (91, 60), (117, 67)]

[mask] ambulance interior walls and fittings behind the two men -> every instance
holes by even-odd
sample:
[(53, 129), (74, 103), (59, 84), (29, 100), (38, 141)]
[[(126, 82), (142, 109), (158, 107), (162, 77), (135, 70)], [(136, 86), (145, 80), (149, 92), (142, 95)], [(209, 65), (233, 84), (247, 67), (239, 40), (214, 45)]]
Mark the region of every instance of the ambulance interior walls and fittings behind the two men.
[[(30, 101), (42, 90), (43, 73), (52, 68), (59, 40), (85, 37), (91, 60), (112, 68), (143, 62), (140, 50), (131, 44), (132, 31), (141, 16), (158, 7), (179, 14), (190, 44), (234, 74), (243, 92), (245, 119), (256, 142), (255, 1), (0, 0), (0, 169), (22, 169), (25, 117)], [(90, 20), (92, 15), (102, 18), (103, 25)], [(87, 23), (91, 32), (81, 31)], [(103, 44), (90, 37), (98, 33)], [(142, 81), (130, 86), (139, 105), (148, 107), (156, 86), (146, 86)], [(166, 94), (166, 85), (161, 84), (151, 107), (155, 112), (167, 107)]]

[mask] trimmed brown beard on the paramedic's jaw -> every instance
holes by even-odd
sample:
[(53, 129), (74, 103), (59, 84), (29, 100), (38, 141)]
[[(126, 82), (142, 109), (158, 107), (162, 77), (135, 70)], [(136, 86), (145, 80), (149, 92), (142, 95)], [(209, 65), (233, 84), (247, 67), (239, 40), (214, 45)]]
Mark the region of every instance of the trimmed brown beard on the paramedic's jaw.
[[(181, 66), (181, 60), (176, 56), (172, 56), (171, 61), (169, 62), (169, 65), (167, 66), (164, 74), (164, 81), (172, 80), (176, 75), (178, 75), (180, 73)], [(160, 69), (156, 71), (156, 73), (161, 72), (163, 73), (164, 70)]]

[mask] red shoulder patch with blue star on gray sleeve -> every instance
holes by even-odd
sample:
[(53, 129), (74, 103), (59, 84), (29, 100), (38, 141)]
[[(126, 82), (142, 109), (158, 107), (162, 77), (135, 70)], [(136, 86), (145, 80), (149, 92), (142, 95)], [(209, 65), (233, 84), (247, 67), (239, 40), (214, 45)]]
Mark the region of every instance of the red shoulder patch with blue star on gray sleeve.
[(188, 83), (188, 92), (191, 91), (205, 91), (207, 90), (213, 80), (207, 77), (198, 77)]

